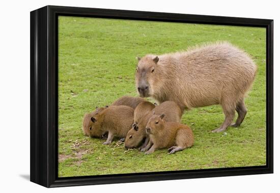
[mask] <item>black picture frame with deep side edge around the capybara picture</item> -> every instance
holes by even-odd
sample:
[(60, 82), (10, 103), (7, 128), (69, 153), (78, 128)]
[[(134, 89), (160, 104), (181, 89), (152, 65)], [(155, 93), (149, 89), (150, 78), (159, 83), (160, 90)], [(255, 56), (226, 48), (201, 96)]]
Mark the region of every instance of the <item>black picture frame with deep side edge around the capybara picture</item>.
[[(58, 177), (58, 16), (266, 28), (266, 166)], [(273, 20), (46, 6), (31, 12), (31, 181), (45, 187), (273, 173)]]

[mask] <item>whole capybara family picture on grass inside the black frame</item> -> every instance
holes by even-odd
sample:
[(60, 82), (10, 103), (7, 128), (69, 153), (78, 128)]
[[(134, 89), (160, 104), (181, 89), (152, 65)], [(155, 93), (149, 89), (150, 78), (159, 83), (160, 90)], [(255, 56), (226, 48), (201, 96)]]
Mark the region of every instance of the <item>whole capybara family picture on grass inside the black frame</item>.
[(58, 21), (58, 177), (266, 165), (266, 28)]

